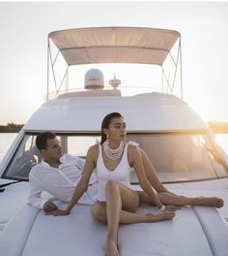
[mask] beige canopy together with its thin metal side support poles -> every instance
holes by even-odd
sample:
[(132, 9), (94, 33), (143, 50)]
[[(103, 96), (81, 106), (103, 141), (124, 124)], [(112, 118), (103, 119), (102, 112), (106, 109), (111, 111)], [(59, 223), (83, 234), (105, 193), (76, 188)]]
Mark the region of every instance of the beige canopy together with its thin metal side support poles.
[[(154, 41), (157, 40), (156, 37), (151, 40), (150, 37), (147, 36), (148, 41), (151, 42), (152, 47), (150, 47), (150, 44), (147, 42), (144, 44), (142, 39), (145, 39), (145, 31), (149, 34), (149, 36), (151, 35), (155, 37), (155, 35), (157, 35), (160, 44), (164, 45), (165, 47), (159, 47), (158, 45), (157, 47), (153, 47)], [(128, 34), (127, 39), (124, 35), (125, 32)], [(93, 42), (92, 39), (90, 40), (91, 42), (87, 42), (86, 40), (83, 42), (81, 38), (83, 38), (83, 36), (85, 38), (90, 37), (90, 33), (93, 35), (92, 38), (94, 38), (96, 42)], [(112, 33), (115, 36), (115, 40), (112, 38), (114, 37)], [(165, 45), (162, 40), (168, 41), (167, 35), (169, 34), (171, 35), (170, 37), (172, 40), (170, 40), (170, 43), (168, 42), (169, 44)], [(100, 35), (104, 35), (104, 39), (101, 38), (100, 40)], [(110, 42), (108, 41), (109, 38)], [(128, 41), (129, 44), (132, 44), (129, 40), (131, 38), (133, 38), (135, 42), (137, 41), (139, 45), (127, 46), (125, 41)], [(122, 39), (124, 43), (122, 43)], [(52, 96), (52, 98), (56, 99), (63, 87), (65, 92), (68, 92), (69, 90), (69, 68), (74, 65), (92, 63), (135, 63), (158, 65), (161, 67), (161, 92), (171, 94), (174, 94), (177, 71), (180, 67), (180, 93), (178, 96), (183, 99), (181, 35), (177, 31), (134, 27), (76, 28), (52, 32), (48, 35), (47, 41), (47, 100), (50, 99), (50, 77), (52, 77), (54, 82), (55, 90), (54, 97)], [(103, 44), (103, 41), (105, 41), (104, 43), (106, 45)], [(117, 43), (115, 41), (117, 41)], [(179, 44), (177, 49), (177, 57), (175, 58), (171, 52), (171, 49), (175, 44), (177, 44), (178, 41)], [(51, 45), (56, 47), (57, 51), (55, 53), (52, 52)], [(131, 54), (128, 54), (129, 52)], [(71, 57), (70, 53), (72, 53), (73, 57)], [(150, 56), (148, 57), (149, 53)], [(155, 55), (155, 58), (152, 53)], [(62, 77), (57, 81), (55, 65), (60, 55), (65, 61), (65, 70)], [(163, 64), (168, 57), (171, 58), (172, 63), (175, 66), (174, 77), (172, 80), (170, 80), (167, 71), (165, 71), (163, 67)]]

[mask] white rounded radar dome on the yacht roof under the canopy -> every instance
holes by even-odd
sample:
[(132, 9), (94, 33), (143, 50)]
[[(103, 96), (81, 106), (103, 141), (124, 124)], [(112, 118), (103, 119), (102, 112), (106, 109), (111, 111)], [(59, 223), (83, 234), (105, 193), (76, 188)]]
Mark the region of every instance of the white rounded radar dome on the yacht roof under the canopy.
[(103, 88), (103, 74), (99, 69), (91, 69), (86, 72), (85, 88), (86, 89), (102, 89)]

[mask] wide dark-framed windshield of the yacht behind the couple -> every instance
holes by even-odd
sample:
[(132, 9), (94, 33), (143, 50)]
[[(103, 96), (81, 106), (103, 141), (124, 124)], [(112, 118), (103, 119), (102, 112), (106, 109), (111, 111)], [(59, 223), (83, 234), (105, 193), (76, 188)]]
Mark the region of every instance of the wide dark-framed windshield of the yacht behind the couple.
[[(85, 158), (90, 145), (100, 140), (98, 135), (58, 134), (63, 152)], [(26, 134), (18, 145), (4, 177), (28, 179), (32, 167), (42, 161), (35, 145), (36, 134)], [(151, 159), (163, 182), (181, 182), (227, 176), (222, 164), (208, 150), (212, 148), (204, 134), (129, 134), (128, 140), (137, 142)], [(137, 183), (134, 172), (131, 181)]]

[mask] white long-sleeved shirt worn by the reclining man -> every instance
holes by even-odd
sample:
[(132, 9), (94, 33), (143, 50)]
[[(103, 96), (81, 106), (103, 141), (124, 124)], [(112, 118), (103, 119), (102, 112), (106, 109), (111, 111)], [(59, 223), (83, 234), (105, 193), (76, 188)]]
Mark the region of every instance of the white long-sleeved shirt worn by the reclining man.
[[(79, 157), (65, 154), (60, 158), (59, 168), (51, 167), (42, 160), (29, 174), (30, 192), (28, 203), (36, 208), (43, 208), (47, 201), (59, 200), (70, 202), (75, 186), (80, 180), (85, 161)], [(54, 199), (45, 199), (43, 192), (48, 192)], [(98, 182), (94, 174), (90, 178), (88, 190), (78, 204), (93, 205), (97, 201)]]

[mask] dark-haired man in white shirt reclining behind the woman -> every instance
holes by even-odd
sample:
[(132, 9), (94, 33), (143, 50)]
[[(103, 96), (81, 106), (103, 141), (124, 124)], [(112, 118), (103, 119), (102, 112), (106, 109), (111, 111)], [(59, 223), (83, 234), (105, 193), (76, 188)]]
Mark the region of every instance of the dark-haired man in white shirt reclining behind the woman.
[[(44, 132), (37, 136), (36, 145), (43, 154), (41, 163), (34, 166), (29, 174), (30, 193), (28, 203), (45, 212), (57, 209), (52, 202), (59, 200), (70, 202), (71, 195), (77, 185), (84, 168), (84, 160), (64, 154), (56, 135)], [(48, 192), (54, 199), (42, 198), (42, 192)], [(97, 201), (98, 182), (91, 176), (87, 192), (79, 200), (79, 204), (93, 205)]]

